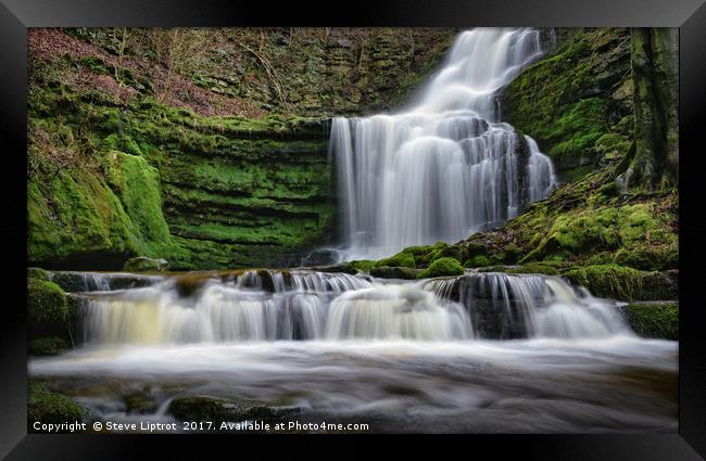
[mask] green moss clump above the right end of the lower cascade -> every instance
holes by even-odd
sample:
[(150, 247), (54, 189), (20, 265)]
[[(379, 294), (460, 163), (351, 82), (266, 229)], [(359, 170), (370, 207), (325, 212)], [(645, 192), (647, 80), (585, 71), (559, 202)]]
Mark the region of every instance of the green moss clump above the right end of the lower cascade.
[(642, 292), (643, 273), (629, 267), (585, 266), (570, 269), (564, 274), (595, 296), (632, 300), (639, 298)]

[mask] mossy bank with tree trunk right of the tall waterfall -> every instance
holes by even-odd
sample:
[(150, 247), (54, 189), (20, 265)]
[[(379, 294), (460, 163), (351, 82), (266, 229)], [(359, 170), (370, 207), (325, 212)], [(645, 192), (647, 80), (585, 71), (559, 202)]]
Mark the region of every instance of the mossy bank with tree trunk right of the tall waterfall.
[(420, 269), (451, 257), (478, 270), (564, 276), (600, 296), (678, 297), (676, 30), (542, 37), (547, 52), (503, 90), (502, 110), (552, 157), (562, 185), (501, 228), (349, 267), (425, 277)]

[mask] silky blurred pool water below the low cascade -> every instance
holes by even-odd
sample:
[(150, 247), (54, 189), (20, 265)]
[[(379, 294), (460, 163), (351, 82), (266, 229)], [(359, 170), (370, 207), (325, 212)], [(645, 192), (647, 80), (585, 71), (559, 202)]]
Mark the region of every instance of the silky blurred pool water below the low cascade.
[[(343, 341), (117, 346), (34, 359), (33, 376), (113, 421), (169, 421), (181, 395), (288, 399), (300, 421), (373, 432), (676, 432), (675, 342)], [(156, 414), (126, 414), (149, 389)]]

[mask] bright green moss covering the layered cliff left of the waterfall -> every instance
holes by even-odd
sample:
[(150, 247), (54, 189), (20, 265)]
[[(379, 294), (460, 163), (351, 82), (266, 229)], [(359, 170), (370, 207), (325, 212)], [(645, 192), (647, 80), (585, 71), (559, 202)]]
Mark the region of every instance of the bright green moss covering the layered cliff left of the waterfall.
[(320, 132), (302, 131), (308, 121), (206, 118), (154, 103), (118, 111), (100, 98), (60, 123), (96, 139), (100, 171), (77, 165), (28, 182), (29, 260), (103, 254), (164, 258), (175, 269), (280, 265), (325, 239), (335, 217), (330, 167)]

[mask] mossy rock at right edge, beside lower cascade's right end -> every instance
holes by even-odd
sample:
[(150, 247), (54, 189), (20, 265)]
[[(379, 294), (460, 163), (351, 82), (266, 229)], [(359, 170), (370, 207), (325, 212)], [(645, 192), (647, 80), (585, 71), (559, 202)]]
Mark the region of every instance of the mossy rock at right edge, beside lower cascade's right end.
[(627, 311), (640, 336), (679, 341), (679, 303), (635, 303), (628, 305)]

